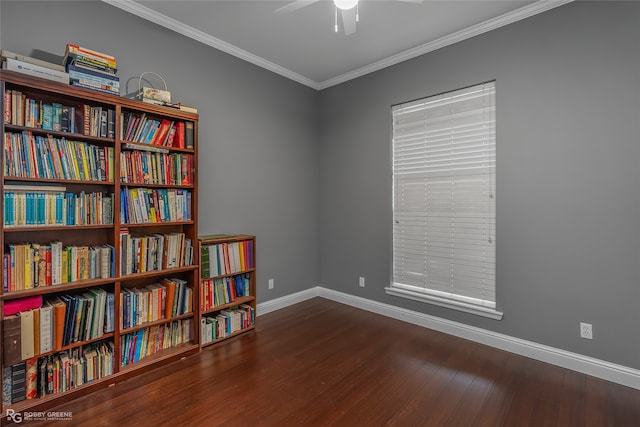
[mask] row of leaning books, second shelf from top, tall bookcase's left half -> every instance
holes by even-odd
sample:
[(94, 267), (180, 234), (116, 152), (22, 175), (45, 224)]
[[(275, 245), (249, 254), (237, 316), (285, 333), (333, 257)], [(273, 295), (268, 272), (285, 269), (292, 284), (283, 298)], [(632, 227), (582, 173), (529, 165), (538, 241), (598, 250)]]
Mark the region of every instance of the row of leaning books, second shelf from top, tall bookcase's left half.
[(113, 182), (113, 156), (113, 147), (31, 131), (4, 134), (5, 176)]

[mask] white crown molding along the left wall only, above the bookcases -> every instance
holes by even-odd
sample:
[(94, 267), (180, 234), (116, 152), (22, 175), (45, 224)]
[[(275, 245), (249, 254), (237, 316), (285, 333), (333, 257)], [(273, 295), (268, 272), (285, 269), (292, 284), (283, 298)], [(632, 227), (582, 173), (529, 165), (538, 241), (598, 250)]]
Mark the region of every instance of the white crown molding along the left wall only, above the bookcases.
[(281, 67), (278, 64), (274, 64), (271, 61), (267, 61), (264, 58), (261, 58), (257, 55), (254, 55), (246, 50), (242, 50), (230, 43), (227, 43), (223, 40), (220, 40), (216, 37), (213, 37), (209, 34), (206, 34), (196, 28), (190, 27), (188, 25), (183, 24), (180, 21), (177, 21), (173, 18), (170, 18), (166, 15), (158, 13), (148, 7), (142, 6), (141, 4), (131, 1), (131, 0), (102, 0), (102, 2), (107, 3), (111, 6), (115, 6), (119, 9), (122, 9), (126, 12), (129, 12), (133, 15), (136, 15), (140, 18), (146, 19), (147, 21), (151, 21), (155, 24), (161, 25), (171, 31), (175, 31), (176, 33), (182, 34), (183, 36), (187, 36), (193, 40), (199, 41), (207, 46), (211, 46), (215, 49), (218, 49), (222, 52), (228, 53), (229, 55), (233, 55), (237, 58), (240, 58), (244, 61), (250, 62), (259, 67), (265, 68), (269, 71), (272, 71), (276, 74), (279, 74), (283, 77), (291, 79), (295, 82), (303, 84), (305, 86), (309, 86), (313, 89), (319, 90), (320, 86), (318, 82), (313, 81), (305, 76), (302, 76), (298, 73), (295, 73), (287, 68)]

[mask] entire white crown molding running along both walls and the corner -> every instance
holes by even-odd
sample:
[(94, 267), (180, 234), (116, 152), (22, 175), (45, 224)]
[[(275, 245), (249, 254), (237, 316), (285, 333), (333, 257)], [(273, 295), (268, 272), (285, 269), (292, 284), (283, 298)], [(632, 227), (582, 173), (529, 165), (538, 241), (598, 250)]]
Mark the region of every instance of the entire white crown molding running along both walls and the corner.
[(500, 28), (505, 25), (509, 25), (511, 23), (520, 21), (522, 19), (529, 18), (539, 13), (546, 12), (547, 10), (554, 9), (556, 7), (570, 3), (574, 0), (539, 0), (535, 3), (531, 3), (527, 6), (523, 6), (512, 12), (505, 13), (496, 18), (492, 18), (487, 21), (481, 22), (480, 24), (476, 24), (471, 27), (465, 28), (463, 30), (456, 31), (455, 33), (441, 37), (432, 42), (425, 43), (413, 49), (406, 50), (397, 55), (390, 56), (388, 58), (374, 62), (370, 65), (366, 65), (356, 70), (349, 71), (347, 73), (341, 74), (339, 76), (333, 77), (328, 80), (324, 80), (322, 82), (314, 81), (303, 75), (295, 73), (287, 68), (281, 67), (278, 64), (274, 64), (271, 61), (267, 61), (264, 58), (261, 58), (257, 55), (254, 55), (250, 52), (240, 49), (230, 43), (227, 43), (223, 40), (220, 40), (209, 34), (206, 34), (198, 29), (185, 25), (173, 18), (169, 18), (168, 16), (158, 13), (152, 9), (149, 9), (148, 7), (142, 6), (141, 4), (135, 1), (132, 1), (132, 0), (102, 0), (102, 1), (111, 6), (117, 7), (133, 15), (136, 15), (140, 18), (143, 18), (153, 23), (156, 23), (158, 25), (161, 25), (171, 31), (175, 31), (176, 33), (182, 34), (193, 40), (199, 41), (200, 43), (203, 43), (207, 46), (211, 46), (215, 49), (221, 50), (222, 52), (228, 53), (244, 61), (250, 62), (254, 65), (257, 65), (259, 67), (272, 71), (276, 74), (279, 74), (283, 77), (286, 77), (290, 80), (293, 80), (295, 82), (308, 86), (312, 89), (322, 90), (322, 89), (329, 88), (331, 86), (335, 86), (335, 85), (347, 82), (349, 80), (353, 80), (355, 78), (364, 76), (366, 74), (373, 73), (374, 71), (378, 71), (383, 68), (387, 68), (392, 65), (399, 64), (400, 62), (404, 62), (409, 59), (416, 58), (426, 53), (433, 52), (434, 50), (441, 49), (443, 47), (469, 39), (471, 37), (475, 37), (477, 35), (486, 33), (488, 31), (495, 30), (496, 28)]

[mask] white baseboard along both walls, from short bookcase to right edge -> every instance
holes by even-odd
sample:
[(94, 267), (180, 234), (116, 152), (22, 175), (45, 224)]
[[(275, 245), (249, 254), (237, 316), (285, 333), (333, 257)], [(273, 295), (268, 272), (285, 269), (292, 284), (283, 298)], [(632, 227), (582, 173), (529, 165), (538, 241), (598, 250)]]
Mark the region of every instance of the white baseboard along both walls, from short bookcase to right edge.
[(640, 390), (640, 370), (638, 369), (476, 328), (464, 323), (406, 310), (321, 286), (260, 303), (257, 306), (257, 314), (266, 314), (316, 296)]

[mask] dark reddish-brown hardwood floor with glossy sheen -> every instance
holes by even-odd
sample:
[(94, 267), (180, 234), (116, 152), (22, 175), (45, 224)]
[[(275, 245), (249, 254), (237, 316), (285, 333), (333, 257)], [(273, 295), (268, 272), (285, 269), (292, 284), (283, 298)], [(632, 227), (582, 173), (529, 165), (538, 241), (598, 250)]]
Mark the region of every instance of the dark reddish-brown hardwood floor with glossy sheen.
[(47, 425), (640, 426), (639, 390), (325, 299), (258, 320)]

